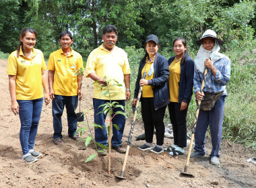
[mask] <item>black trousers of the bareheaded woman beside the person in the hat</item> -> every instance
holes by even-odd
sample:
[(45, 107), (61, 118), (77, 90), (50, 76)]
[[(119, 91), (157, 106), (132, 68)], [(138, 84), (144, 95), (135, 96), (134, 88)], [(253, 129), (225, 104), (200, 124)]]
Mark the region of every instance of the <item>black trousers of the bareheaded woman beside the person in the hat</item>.
[[(189, 104), (187, 105), (189, 107)], [(187, 146), (187, 109), (180, 111), (181, 103), (168, 104), (170, 122), (172, 123), (174, 144), (183, 148)]]

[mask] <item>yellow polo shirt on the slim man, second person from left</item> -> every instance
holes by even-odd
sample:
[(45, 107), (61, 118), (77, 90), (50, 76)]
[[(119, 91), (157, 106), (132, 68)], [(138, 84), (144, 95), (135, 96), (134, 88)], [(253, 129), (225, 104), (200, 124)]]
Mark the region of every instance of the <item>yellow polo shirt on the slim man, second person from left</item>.
[(71, 66), (75, 66), (77, 70), (80, 67), (84, 68), (82, 56), (72, 48), (68, 56), (64, 54), (62, 48), (51, 53), (47, 69), (55, 71), (53, 91), (56, 95), (77, 95), (77, 75)]

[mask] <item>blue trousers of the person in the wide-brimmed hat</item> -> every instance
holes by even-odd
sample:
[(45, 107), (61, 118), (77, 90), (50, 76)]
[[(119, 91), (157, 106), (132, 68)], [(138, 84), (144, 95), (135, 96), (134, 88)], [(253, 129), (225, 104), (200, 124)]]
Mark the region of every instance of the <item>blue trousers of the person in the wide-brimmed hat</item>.
[(205, 134), (210, 125), (212, 136), (212, 152), (210, 156), (220, 156), (220, 142), (222, 141), (222, 124), (224, 119), (225, 97), (221, 96), (213, 109), (203, 111), (200, 109), (197, 127), (195, 128), (195, 150), (205, 154)]

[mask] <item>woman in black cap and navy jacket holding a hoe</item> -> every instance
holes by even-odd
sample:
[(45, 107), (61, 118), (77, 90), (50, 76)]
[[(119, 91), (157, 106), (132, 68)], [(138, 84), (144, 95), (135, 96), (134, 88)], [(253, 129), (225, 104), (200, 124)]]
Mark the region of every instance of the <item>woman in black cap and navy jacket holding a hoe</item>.
[[(168, 62), (158, 54), (158, 37), (151, 34), (146, 38), (146, 54), (139, 63), (139, 72), (135, 83), (132, 105), (135, 106), (139, 86), (143, 86), (141, 98), (141, 115), (144, 123), (146, 143), (140, 150), (150, 150), (160, 154), (164, 144), (164, 113), (169, 103)], [(145, 79), (141, 79), (146, 71)], [(154, 128), (156, 129), (156, 146), (153, 147)]]

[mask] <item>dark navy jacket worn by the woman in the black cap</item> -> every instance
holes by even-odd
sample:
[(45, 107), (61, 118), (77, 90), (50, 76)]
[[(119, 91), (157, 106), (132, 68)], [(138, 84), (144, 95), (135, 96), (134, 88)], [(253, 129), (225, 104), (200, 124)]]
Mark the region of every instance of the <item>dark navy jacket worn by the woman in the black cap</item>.
[[(139, 93), (139, 81), (141, 77), (142, 68), (145, 66), (146, 60), (139, 62), (139, 71), (137, 75), (137, 81), (135, 83), (134, 98), (137, 99)], [(154, 106), (155, 109), (159, 109), (170, 103), (169, 99), (169, 85), (168, 85), (168, 62), (164, 56), (156, 54), (154, 59), (154, 79), (148, 81), (148, 85), (153, 87)]]

